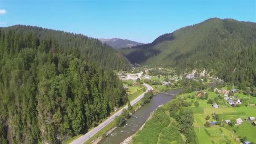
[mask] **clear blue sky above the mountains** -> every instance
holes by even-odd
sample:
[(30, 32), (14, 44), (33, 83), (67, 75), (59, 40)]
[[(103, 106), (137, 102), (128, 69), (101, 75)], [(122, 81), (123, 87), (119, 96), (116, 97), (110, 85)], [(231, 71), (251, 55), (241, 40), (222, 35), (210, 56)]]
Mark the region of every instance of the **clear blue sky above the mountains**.
[(256, 22), (256, 0), (0, 0), (1, 27), (26, 24), (142, 43), (212, 17)]

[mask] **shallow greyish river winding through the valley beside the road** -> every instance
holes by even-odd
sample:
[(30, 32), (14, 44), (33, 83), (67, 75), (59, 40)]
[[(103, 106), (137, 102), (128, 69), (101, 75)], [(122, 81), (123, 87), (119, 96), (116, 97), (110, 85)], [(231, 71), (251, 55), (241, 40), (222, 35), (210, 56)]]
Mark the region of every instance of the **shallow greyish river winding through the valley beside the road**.
[[(181, 90), (182, 88), (177, 88), (165, 93), (176, 95), (179, 94), (179, 91)], [(149, 103), (145, 104), (143, 107), (134, 112), (133, 115), (131, 115), (131, 117), (126, 120), (122, 126), (117, 127), (107, 137), (103, 138), (99, 144), (120, 144), (120, 142), (136, 133), (136, 131), (138, 131), (139, 128), (145, 123), (149, 115), (155, 111), (159, 105), (165, 104), (171, 99), (173, 99), (173, 96), (171, 95), (158, 93), (156, 96), (152, 97)]]

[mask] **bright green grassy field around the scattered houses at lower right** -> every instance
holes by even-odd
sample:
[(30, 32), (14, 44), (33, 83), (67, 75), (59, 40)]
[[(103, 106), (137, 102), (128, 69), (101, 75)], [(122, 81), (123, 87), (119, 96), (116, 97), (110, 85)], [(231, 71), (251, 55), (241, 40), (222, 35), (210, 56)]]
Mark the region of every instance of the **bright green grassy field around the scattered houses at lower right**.
[[(195, 99), (188, 98), (189, 95), (192, 96), (195, 94), (196, 92), (186, 93), (181, 95), (181, 97), (185, 98), (185, 101), (188, 102), (191, 100), (198, 102), (200, 101), (199, 107), (195, 107), (194, 103), (191, 107), (187, 107), (188, 109), (191, 109), (192, 112), (194, 112), (195, 120), (193, 125), (195, 126), (195, 132), (197, 133), (199, 144), (240, 144), (240, 141), (235, 141), (235, 138), (237, 138), (238, 136), (241, 138), (246, 136), (248, 141), (256, 141), (256, 126), (252, 125), (252, 121), (244, 120), (247, 117), (256, 117), (256, 107), (245, 107), (246, 102), (248, 104), (249, 100), (247, 95), (243, 93), (235, 94), (235, 96), (239, 97), (243, 101), (241, 107), (233, 108), (229, 106), (229, 104), (226, 104), (224, 101), (219, 104), (221, 106), (220, 108), (213, 108), (211, 107), (211, 104), (207, 104), (207, 100), (198, 100), (197, 97), (195, 97)], [(208, 92), (208, 98), (210, 99), (214, 99), (217, 96), (218, 95), (214, 92)], [(255, 97), (250, 98), (250, 104), (255, 104), (255, 101)], [(219, 115), (220, 121), (223, 120), (223, 127), (221, 127), (220, 125), (212, 125), (211, 128), (206, 128), (204, 126), (206, 121), (216, 121), (215, 119), (213, 119), (213, 113)], [(210, 116), (210, 120), (205, 120), (205, 117), (207, 115)], [(241, 117), (244, 121), (241, 125), (234, 125), (231, 127), (224, 122), (224, 120), (235, 121), (239, 117)], [(232, 138), (233, 131), (234, 136)]]

